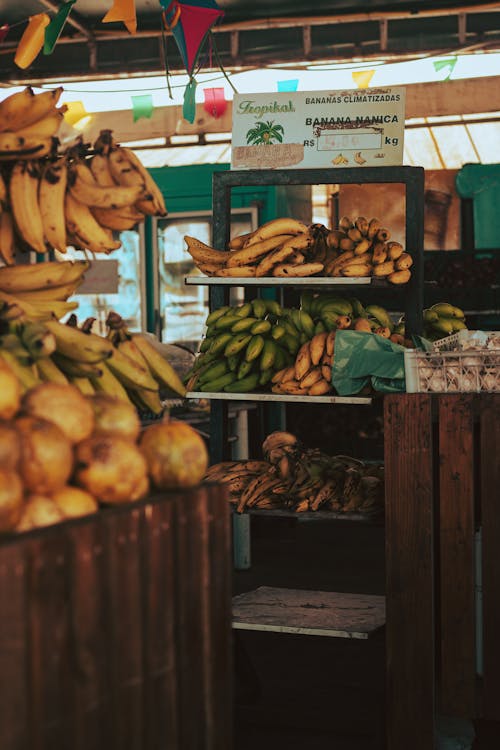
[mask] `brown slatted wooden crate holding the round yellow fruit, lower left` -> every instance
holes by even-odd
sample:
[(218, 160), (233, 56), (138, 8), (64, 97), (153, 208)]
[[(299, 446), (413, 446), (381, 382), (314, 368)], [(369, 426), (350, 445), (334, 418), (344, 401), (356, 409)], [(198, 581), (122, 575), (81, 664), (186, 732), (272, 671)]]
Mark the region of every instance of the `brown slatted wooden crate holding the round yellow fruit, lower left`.
[(203, 485), (0, 543), (2, 750), (229, 750), (229, 524)]

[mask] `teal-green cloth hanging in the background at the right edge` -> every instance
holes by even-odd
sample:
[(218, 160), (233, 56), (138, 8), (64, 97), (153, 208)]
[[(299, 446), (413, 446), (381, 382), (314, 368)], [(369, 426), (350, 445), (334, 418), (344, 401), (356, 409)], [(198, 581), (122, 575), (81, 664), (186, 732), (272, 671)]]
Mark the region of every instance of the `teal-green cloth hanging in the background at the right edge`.
[(466, 164), (455, 186), (461, 198), (473, 201), (476, 250), (500, 249), (500, 164)]

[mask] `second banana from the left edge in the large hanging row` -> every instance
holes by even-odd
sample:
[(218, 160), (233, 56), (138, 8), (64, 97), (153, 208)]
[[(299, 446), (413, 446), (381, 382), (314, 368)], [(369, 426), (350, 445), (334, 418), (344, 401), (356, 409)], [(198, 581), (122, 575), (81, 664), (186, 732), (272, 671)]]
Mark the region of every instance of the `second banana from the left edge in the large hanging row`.
[(42, 216), (38, 205), (40, 166), (34, 161), (18, 161), (10, 178), (10, 202), (14, 221), (22, 239), (35, 252), (45, 253)]

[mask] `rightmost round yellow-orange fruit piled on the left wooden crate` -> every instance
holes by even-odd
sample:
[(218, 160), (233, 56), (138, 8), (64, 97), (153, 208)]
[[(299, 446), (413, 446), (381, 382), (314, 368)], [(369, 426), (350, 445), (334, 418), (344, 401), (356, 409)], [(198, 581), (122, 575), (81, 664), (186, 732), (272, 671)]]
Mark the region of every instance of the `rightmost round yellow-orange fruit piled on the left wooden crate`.
[(149, 425), (139, 446), (158, 489), (193, 487), (201, 482), (208, 467), (203, 438), (185, 422), (166, 420)]

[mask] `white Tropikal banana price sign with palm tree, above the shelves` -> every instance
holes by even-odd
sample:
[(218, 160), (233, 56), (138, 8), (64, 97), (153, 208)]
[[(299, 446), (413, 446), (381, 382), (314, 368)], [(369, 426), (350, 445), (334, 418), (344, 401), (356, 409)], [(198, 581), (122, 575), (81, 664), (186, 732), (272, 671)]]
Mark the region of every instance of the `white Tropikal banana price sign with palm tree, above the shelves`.
[(405, 89), (235, 94), (231, 167), (403, 163)]

